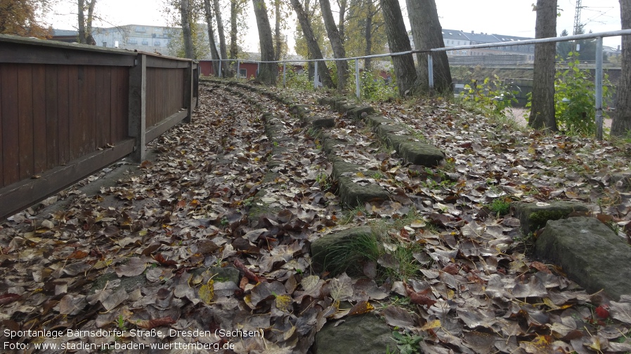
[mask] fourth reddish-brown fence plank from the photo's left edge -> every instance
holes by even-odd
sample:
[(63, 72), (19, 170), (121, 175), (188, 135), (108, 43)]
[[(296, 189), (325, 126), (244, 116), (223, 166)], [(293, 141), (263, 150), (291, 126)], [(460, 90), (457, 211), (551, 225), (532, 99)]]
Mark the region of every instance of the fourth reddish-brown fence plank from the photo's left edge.
[(59, 162), (59, 121), (58, 121), (58, 102), (60, 101), (60, 93), (57, 86), (57, 65), (46, 65), (46, 82), (44, 88), (46, 90), (46, 169), (55, 167)]

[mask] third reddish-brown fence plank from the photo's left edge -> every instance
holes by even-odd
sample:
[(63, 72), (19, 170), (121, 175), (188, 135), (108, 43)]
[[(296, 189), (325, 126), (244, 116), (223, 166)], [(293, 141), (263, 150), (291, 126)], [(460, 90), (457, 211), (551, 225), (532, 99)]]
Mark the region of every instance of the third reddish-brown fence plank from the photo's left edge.
[(48, 142), (46, 140), (46, 65), (33, 67), (33, 174), (46, 170)]

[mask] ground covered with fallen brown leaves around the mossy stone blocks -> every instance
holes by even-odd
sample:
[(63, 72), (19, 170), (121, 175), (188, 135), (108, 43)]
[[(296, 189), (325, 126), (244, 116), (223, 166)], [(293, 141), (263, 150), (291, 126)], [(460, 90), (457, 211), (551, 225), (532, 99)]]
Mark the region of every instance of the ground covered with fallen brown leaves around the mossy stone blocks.
[[(5, 351), (310, 353), (326, 322), (367, 311), (404, 337), (422, 336), (424, 353), (631, 351), (631, 297), (585, 293), (530, 259), (518, 219), (490, 210), (497, 200), (578, 200), (628, 237), (631, 193), (615, 176), (630, 169), (631, 144), (515, 130), (441, 100), (373, 104), (445, 151), (445, 165), (422, 168), (314, 94), (294, 93), (312, 114), (336, 118), (329, 134), (353, 143), (337, 155), (366, 169), (356, 182), (391, 192), (386, 203), (345, 210), (318, 134), (287, 107), (245, 93), (261, 108), (204, 84), (193, 123), (152, 142), (155, 158), (139, 172), (0, 224)], [(282, 125), (281, 149), (263, 111)], [(264, 179), (269, 161), (276, 175)], [(248, 219), (262, 206), (280, 212)], [(365, 225), (379, 233), (382, 256), (360, 265), (364, 276), (311, 268), (313, 240)], [(412, 271), (389, 257), (401, 247)], [(236, 281), (218, 271), (226, 268), (239, 270)]]

